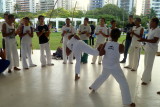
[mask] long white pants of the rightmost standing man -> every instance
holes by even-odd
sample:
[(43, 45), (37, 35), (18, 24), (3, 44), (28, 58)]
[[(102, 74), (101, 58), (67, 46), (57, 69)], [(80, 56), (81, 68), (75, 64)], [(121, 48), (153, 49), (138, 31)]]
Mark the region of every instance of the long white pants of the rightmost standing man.
[(145, 58), (144, 58), (144, 72), (142, 75), (142, 81), (148, 83), (151, 81), (152, 68), (156, 55), (156, 50), (153, 50), (146, 46), (145, 48)]

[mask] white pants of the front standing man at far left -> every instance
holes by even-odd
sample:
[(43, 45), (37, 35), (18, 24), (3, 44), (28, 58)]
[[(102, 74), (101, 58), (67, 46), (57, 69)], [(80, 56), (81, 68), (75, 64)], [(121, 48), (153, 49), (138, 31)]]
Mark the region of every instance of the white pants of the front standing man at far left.
[(19, 58), (18, 58), (16, 40), (14, 38), (10, 39), (6, 37), (5, 45), (6, 45), (6, 57), (7, 57), (7, 60), (10, 61), (9, 69), (12, 69), (12, 67), (18, 67)]

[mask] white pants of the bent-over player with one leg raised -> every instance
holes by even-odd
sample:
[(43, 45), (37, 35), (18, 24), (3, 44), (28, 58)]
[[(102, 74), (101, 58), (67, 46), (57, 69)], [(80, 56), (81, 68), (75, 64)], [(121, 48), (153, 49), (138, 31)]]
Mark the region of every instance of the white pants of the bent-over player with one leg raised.
[(80, 74), (80, 65), (81, 65), (81, 55), (82, 52), (91, 54), (91, 55), (99, 55), (98, 50), (91, 48), (84, 42), (80, 42), (76, 47), (73, 49), (73, 54), (76, 58), (76, 65), (75, 65), (75, 73)]

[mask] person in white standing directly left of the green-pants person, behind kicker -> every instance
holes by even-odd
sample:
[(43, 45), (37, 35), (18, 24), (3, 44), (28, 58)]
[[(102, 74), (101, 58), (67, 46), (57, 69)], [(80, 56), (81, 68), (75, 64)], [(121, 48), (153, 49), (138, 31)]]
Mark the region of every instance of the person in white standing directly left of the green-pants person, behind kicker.
[[(67, 18), (66, 19), (66, 25), (62, 27), (62, 37), (63, 37), (63, 64), (67, 63), (67, 55), (66, 55), (66, 46), (67, 46), (67, 42), (68, 42), (68, 37), (70, 35), (76, 34), (76, 30), (75, 28), (70, 25), (70, 19)], [(71, 53), (68, 56), (69, 59), (69, 63), (73, 64), (73, 54)]]

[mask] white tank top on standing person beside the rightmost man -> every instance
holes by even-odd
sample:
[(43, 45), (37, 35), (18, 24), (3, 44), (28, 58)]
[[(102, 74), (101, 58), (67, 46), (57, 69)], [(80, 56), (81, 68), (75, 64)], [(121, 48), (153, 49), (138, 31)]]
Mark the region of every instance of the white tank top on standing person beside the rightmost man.
[[(132, 30), (134, 31), (135, 34), (140, 35), (142, 28), (143, 28), (142, 26), (140, 26), (138, 28), (136, 26), (133, 26)], [(131, 46), (141, 47), (141, 42), (138, 42), (138, 40), (139, 40), (139, 38), (137, 38), (136, 36), (133, 36)]]

